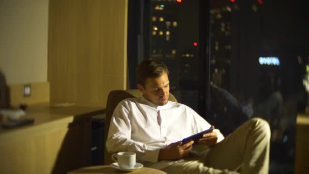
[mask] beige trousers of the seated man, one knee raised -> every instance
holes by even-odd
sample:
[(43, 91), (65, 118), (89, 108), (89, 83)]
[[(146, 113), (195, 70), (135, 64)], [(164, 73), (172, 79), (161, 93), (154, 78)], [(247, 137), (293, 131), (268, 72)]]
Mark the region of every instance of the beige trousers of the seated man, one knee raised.
[(167, 173), (268, 173), (270, 128), (253, 118), (199, 158), (189, 157), (161, 170)]

